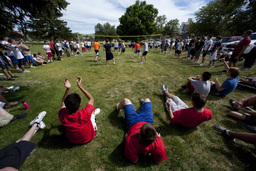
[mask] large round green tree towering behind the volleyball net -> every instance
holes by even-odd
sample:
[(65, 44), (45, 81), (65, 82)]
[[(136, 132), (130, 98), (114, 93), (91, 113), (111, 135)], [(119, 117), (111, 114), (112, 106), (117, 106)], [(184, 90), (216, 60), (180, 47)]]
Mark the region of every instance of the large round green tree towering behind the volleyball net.
[(119, 35), (153, 34), (157, 31), (155, 22), (157, 14), (158, 10), (153, 5), (137, 0), (119, 18), (120, 25), (117, 27), (117, 33)]

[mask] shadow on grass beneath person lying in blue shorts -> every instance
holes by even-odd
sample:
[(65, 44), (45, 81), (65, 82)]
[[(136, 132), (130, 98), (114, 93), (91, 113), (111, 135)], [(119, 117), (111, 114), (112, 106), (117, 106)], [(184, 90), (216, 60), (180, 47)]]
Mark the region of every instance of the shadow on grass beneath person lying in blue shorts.
[(149, 168), (151, 166), (157, 165), (154, 162), (152, 156), (149, 155), (138, 155), (139, 160), (136, 164), (130, 162), (124, 157), (124, 149), (125, 149), (125, 141), (123, 140), (121, 144), (119, 144), (115, 150), (109, 155), (109, 160), (112, 161), (118, 167), (126, 167), (131, 165), (136, 165), (136, 167), (140, 168)]

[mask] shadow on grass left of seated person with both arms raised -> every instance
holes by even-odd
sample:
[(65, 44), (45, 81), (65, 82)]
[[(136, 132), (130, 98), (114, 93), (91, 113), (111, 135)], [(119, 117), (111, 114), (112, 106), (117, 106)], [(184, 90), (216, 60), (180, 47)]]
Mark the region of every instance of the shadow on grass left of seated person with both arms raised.
[[(54, 129), (57, 129), (59, 132), (61, 132), (61, 134), (52, 134), (51, 132), (56, 132)], [(37, 144), (39, 147), (47, 149), (66, 149), (77, 146), (68, 142), (68, 139), (65, 135), (65, 130), (62, 125), (51, 125), (49, 128), (43, 129), (43, 131), (44, 136)]]

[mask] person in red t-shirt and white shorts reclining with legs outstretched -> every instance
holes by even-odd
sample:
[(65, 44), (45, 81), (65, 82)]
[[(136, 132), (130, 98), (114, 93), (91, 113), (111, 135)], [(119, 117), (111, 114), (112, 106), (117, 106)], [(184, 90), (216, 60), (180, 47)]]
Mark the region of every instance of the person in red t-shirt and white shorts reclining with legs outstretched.
[(168, 87), (162, 85), (162, 94), (166, 96), (166, 109), (172, 123), (179, 123), (184, 127), (193, 128), (204, 121), (212, 119), (212, 111), (204, 108), (206, 97), (200, 93), (192, 93), (189, 108), (179, 97), (168, 92)]

